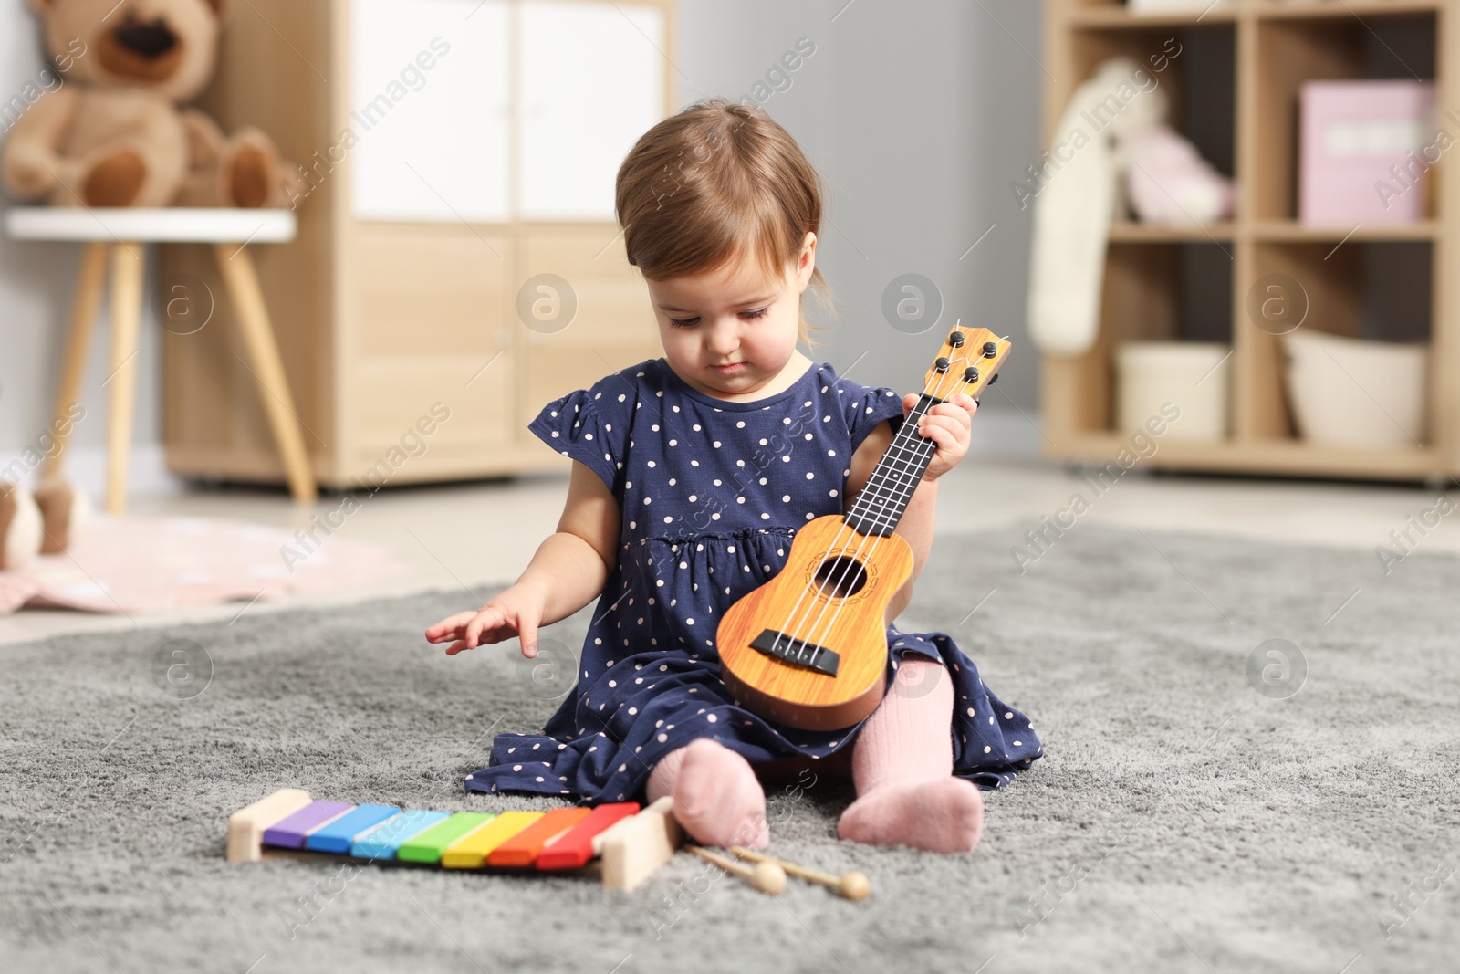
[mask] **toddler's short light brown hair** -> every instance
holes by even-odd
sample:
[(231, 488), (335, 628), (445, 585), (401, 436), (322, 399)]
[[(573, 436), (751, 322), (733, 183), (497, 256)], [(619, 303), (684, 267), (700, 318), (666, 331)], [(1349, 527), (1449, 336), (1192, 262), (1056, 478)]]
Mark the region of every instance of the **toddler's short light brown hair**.
[[(810, 231), (821, 237), (822, 184), (791, 134), (759, 108), (695, 102), (634, 145), (615, 185), (629, 263), (648, 280), (718, 270), (749, 253), (780, 282)], [(819, 267), (810, 288), (831, 310)], [(822, 329), (800, 320), (799, 337)]]

